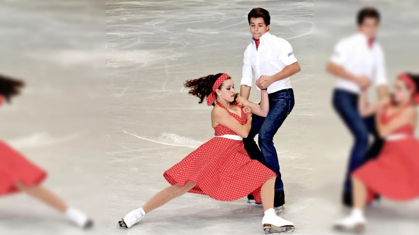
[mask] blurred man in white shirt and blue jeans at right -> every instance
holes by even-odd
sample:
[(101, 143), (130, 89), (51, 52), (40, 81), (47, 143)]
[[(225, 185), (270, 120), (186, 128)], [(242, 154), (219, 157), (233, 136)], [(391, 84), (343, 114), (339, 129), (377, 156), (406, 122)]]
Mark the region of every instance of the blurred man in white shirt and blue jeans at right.
[[(380, 14), (375, 8), (361, 9), (357, 15), (358, 32), (336, 44), (327, 65), (327, 71), (337, 77), (333, 107), (355, 139), (342, 194), (342, 202), (347, 206), (352, 206), (350, 174), (377, 156), (383, 145), (375, 128), (375, 118), (362, 118), (357, 108), (360, 91), (370, 87), (372, 82), (380, 99), (387, 96), (384, 53), (375, 38), (379, 23)], [(374, 142), (368, 150), (370, 133)]]

